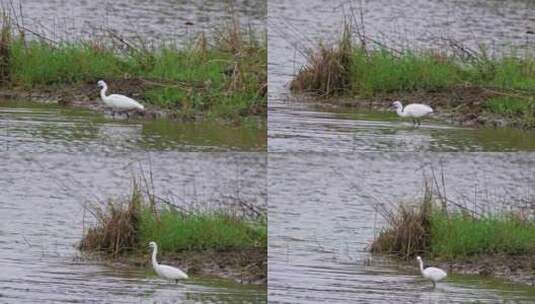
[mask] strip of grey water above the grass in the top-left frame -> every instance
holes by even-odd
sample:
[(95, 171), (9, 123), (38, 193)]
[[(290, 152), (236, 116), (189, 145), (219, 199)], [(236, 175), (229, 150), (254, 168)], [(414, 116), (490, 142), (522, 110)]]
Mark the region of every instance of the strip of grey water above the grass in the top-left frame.
[(182, 41), (201, 30), (211, 33), (229, 21), (232, 12), (242, 23), (263, 30), (267, 10), (263, 0), (4, 0), (2, 4), (17, 15), (22, 7), (25, 26), (57, 41), (104, 35), (107, 30), (137, 42), (139, 38)]

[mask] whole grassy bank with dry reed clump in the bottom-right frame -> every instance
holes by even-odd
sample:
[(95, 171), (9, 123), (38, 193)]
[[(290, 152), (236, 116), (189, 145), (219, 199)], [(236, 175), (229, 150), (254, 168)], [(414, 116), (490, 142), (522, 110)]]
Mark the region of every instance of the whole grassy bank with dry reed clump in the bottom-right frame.
[(387, 226), (373, 241), (371, 251), (407, 261), (421, 255), (449, 267), (456, 265), (453, 268), (461, 272), (463, 267), (487, 262), (491, 268), (518, 268), (524, 273), (535, 269), (532, 217), (521, 213), (483, 216), (458, 208), (448, 211), (445, 204), (437, 206), (434, 201), (427, 191), (420, 202), (382, 212)]

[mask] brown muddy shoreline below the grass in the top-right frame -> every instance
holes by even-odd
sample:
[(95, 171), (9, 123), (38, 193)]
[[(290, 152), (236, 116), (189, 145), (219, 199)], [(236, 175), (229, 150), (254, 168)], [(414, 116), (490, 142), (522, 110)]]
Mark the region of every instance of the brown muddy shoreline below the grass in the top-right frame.
[(434, 109), (427, 119), (466, 127), (513, 127), (524, 128), (521, 118), (511, 118), (485, 111), (489, 98), (497, 92), (478, 87), (455, 87), (443, 91), (377, 94), (371, 98), (337, 96), (317, 98), (310, 94), (291, 94), (289, 99), (314, 104), (320, 109), (367, 109), (392, 112), (392, 102), (400, 100), (404, 105), (425, 103)]

